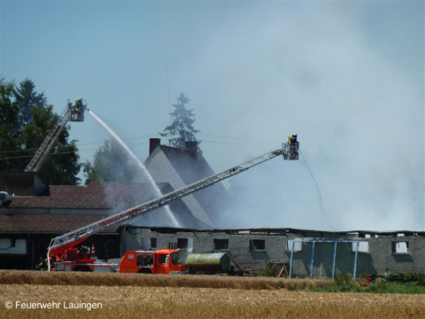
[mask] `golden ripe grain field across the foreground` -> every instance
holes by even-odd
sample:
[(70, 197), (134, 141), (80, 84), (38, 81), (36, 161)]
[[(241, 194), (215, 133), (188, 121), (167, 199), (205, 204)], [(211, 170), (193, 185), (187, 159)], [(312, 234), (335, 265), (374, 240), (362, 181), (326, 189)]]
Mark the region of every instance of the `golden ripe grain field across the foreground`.
[[(19, 319), (425, 317), (424, 295), (326, 293), (302, 290), (327, 284), (329, 284), (327, 280), (264, 277), (152, 276), (4, 270), (0, 271), (2, 297), (0, 317)], [(8, 309), (6, 306), (11, 308)], [(49, 306), (50, 308), (45, 308)]]

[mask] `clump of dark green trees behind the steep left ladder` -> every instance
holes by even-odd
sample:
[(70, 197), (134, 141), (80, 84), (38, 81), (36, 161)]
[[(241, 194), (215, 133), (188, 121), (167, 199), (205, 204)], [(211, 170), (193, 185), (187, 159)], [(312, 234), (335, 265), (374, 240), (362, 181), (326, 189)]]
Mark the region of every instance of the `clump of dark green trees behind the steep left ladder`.
[[(13, 82), (0, 80), (0, 171), (23, 172), (49, 130), (58, 121), (53, 106), (26, 79), (17, 89)], [(28, 113), (29, 110), (29, 113)], [(58, 137), (56, 148), (38, 173), (48, 184), (79, 184), (76, 141), (68, 142), (69, 126)]]

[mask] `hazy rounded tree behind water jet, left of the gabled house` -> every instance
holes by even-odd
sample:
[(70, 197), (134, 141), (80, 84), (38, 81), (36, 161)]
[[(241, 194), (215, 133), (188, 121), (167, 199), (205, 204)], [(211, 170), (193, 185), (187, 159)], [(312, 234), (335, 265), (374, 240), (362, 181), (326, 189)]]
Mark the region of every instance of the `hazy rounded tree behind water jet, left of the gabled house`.
[(93, 164), (89, 161), (83, 164), (85, 184), (98, 182), (131, 182), (137, 167), (128, 157), (128, 152), (113, 138), (95, 152)]

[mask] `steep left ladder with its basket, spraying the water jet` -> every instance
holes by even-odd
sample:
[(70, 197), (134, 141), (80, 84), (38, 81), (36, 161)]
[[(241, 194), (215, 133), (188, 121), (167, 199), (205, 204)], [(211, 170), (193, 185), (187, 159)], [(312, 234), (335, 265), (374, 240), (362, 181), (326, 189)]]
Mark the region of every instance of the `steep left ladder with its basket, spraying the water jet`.
[(84, 121), (84, 111), (86, 109), (87, 103), (81, 97), (75, 100), (74, 105), (68, 99), (66, 109), (60, 115), (59, 120), (56, 122), (55, 126), (50, 129), (49, 135), (46, 136), (38, 151), (35, 152), (33, 159), (31, 159), (27, 168), (25, 168), (26, 172), (38, 173), (40, 171), (42, 163), (49, 156), (51, 149), (58, 141), (60, 133), (62, 133), (66, 127), (66, 123), (68, 121)]

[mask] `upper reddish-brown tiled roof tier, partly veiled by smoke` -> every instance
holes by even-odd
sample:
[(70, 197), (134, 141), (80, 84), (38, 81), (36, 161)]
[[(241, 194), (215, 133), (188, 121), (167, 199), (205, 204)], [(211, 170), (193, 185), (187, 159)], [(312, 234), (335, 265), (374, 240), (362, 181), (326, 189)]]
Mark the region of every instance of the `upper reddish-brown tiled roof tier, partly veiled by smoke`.
[[(169, 187), (167, 183), (157, 185), (161, 191)], [(87, 186), (51, 185), (42, 196), (12, 197), (9, 207), (127, 208), (155, 197), (148, 183), (91, 182)]]

